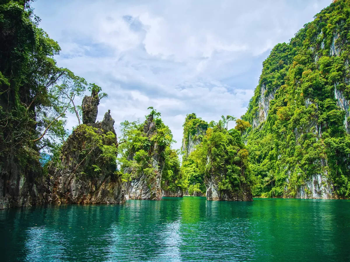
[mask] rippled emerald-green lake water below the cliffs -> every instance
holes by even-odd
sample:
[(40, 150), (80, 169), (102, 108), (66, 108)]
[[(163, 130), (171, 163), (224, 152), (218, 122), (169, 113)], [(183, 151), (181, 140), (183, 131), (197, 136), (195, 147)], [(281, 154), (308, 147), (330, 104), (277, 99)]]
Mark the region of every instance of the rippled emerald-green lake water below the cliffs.
[(1, 261), (350, 261), (350, 201), (204, 197), (0, 210)]

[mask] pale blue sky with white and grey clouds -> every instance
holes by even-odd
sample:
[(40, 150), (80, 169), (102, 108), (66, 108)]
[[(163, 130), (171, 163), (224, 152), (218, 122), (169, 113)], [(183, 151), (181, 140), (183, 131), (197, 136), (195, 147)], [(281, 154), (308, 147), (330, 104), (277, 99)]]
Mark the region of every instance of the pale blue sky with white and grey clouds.
[[(97, 120), (110, 109), (120, 134), (120, 122), (144, 121), (152, 106), (180, 148), (187, 114), (208, 122), (243, 115), (273, 46), (330, 2), (37, 0), (32, 7), (61, 46), (58, 66), (109, 95)], [(69, 116), (66, 128), (76, 125)]]

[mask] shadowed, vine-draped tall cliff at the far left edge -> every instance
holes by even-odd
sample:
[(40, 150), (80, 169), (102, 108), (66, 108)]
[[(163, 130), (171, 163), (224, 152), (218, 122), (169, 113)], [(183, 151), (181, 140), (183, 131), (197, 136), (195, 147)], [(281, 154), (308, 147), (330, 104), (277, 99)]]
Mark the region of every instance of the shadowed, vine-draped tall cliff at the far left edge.
[(45, 202), (39, 146), (33, 140), (40, 128), (35, 107), (42, 106), (47, 96), (43, 94), (35, 101), (33, 97), (39, 89), (36, 83), (46, 81), (45, 77), (50, 75), (47, 59), (54, 51), (48, 45), (43, 47), (42, 42), (49, 43), (51, 39), (36, 28), (23, 3), (20, 6), (16, 1), (1, 1), (0, 15), (0, 209), (3, 209)]

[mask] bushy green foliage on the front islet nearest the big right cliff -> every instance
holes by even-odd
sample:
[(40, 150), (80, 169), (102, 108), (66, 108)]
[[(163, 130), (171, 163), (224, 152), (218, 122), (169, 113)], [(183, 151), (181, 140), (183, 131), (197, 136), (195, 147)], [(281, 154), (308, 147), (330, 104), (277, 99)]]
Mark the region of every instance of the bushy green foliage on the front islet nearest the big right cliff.
[[(183, 158), (181, 174), (184, 188), (189, 194), (205, 193), (205, 179), (216, 180), (222, 193), (231, 195), (250, 184), (248, 151), (236, 129), (227, 130), (232, 116), (222, 116), (219, 122), (211, 121), (205, 135), (195, 150)], [(186, 124), (186, 122), (185, 122)]]

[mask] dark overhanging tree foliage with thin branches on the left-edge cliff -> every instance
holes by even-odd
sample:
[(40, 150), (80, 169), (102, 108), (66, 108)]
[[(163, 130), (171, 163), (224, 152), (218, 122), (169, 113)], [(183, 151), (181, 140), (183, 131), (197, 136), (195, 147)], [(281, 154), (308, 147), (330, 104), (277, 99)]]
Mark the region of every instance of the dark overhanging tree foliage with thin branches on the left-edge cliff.
[(0, 3), (0, 157), (22, 166), (37, 162), (40, 151), (57, 160), (66, 112), (79, 117), (73, 101), (88, 87), (56, 65), (61, 48), (39, 21), (29, 1)]

